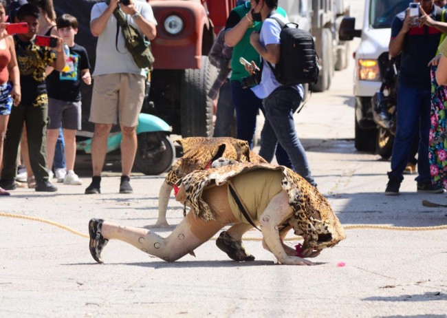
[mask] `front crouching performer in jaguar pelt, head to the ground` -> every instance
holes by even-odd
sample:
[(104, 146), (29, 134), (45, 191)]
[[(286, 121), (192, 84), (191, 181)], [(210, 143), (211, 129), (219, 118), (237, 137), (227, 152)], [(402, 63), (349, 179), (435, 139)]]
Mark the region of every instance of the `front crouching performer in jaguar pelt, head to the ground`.
[[(260, 226), (263, 247), (281, 264), (312, 265), (305, 257), (315, 257), (323, 248), (345, 239), (329, 202), (286, 167), (236, 163), (194, 171), (181, 182), (176, 200), (190, 206), (190, 211), (166, 238), (148, 229), (91, 219), (89, 248), (96, 262), (102, 262), (102, 251), (109, 240), (127, 242), (173, 262), (187, 253), (194, 255), (195, 248), (223, 226), (238, 222)], [(290, 229), (304, 239), (301, 253), (283, 243)]]

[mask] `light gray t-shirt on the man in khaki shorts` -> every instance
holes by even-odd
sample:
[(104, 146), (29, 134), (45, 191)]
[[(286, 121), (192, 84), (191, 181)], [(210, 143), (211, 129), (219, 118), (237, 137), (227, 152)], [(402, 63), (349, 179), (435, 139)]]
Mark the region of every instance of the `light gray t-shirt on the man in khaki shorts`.
[[(153, 16), (152, 8), (146, 1), (133, 1), (133, 5), (146, 21), (152, 22), (155, 25), (157, 24), (157, 21), (155, 21), (155, 17)], [(90, 21), (100, 17), (106, 9), (107, 3), (96, 3), (93, 8), (91, 8)], [(133, 21), (129, 14), (126, 14), (126, 19), (127, 23), (135, 25), (135, 27), (138, 28), (137, 23)], [(140, 67), (135, 64), (132, 55), (127, 51), (121, 30), (118, 32), (119, 52), (116, 50), (116, 27), (117, 21), (112, 14), (109, 21), (107, 21), (105, 29), (98, 36), (98, 44), (96, 45), (96, 65), (93, 76), (116, 73), (144, 75), (144, 69), (140, 69)], [(140, 29), (138, 28), (138, 30)], [(140, 34), (142, 34), (141, 31)]]

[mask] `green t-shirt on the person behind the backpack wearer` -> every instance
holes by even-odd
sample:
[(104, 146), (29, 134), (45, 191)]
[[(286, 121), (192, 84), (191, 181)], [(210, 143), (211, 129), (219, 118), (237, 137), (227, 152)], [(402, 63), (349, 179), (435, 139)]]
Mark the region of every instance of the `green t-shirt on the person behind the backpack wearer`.
[[(241, 19), (247, 19), (245, 16), (248, 12), (250, 12), (251, 6), (250, 1), (247, 1), (246, 4), (241, 6), (237, 6), (230, 12), (230, 16), (228, 17), (227, 23), (225, 25), (225, 30), (230, 30), (241, 21)], [(276, 12), (286, 17), (286, 13), (283, 8), (277, 8)], [(243, 34), (243, 37), (235, 47), (233, 47), (233, 53), (231, 57), (231, 81), (241, 81), (242, 78), (249, 76), (246, 68), (239, 62), (239, 59), (243, 57), (247, 61), (254, 61), (259, 67), (261, 66), (261, 58), (254, 50), (254, 47), (250, 44), (250, 36), (253, 31), (261, 32), (262, 22), (254, 22), (252, 26), (250, 26), (246, 33)]]

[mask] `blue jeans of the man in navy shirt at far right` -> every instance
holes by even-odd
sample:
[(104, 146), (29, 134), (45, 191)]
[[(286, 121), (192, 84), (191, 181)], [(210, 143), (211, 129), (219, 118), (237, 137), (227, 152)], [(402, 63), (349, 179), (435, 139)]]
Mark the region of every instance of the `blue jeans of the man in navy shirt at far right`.
[[(419, 131), (417, 156), (417, 182), (430, 182), (428, 164), (428, 136), (430, 134), (430, 89), (420, 89), (399, 84), (397, 91), (397, 128), (391, 153), (389, 179), (402, 182), (402, 173), (412, 154), (413, 140)], [(419, 129), (418, 129), (419, 128)]]

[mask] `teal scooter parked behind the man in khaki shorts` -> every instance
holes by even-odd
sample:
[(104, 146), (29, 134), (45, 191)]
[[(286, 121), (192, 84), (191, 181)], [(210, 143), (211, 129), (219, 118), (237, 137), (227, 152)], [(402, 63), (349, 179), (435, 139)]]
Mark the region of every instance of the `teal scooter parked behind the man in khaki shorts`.
[[(138, 117), (137, 137), (138, 149), (133, 167), (148, 176), (164, 173), (172, 167), (175, 160), (175, 146), (169, 138), (172, 127), (164, 120), (150, 114), (141, 113)], [(91, 138), (93, 133), (83, 134), (78, 131), (76, 136), (87, 136), (88, 139), (76, 142), (78, 151), (91, 153)], [(120, 148), (122, 134), (111, 132), (107, 140), (107, 153)]]

